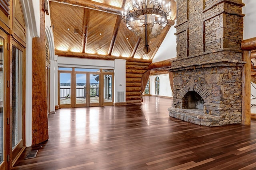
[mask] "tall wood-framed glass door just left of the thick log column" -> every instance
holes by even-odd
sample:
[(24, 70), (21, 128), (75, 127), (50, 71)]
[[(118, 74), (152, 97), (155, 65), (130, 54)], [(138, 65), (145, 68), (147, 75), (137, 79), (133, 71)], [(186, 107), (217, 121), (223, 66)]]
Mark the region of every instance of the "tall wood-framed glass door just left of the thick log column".
[(25, 149), (25, 54), (15, 41), (12, 47), (12, 162)]

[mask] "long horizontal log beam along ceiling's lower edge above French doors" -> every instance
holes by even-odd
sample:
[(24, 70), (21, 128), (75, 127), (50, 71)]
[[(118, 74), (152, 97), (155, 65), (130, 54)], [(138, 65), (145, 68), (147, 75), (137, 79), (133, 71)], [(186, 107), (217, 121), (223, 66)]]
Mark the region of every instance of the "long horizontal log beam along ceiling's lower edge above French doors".
[(138, 63), (152, 63), (152, 60), (145, 59), (131, 59), (129, 57), (116, 57), (112, 55), (98, 55), (98, 54), (88, 54), (88, 53), (74, 53), (70, 51), (57, 51), (55, 50), (55, 55), (63, 57), (78, 57), (83, 59), (99, 59), (99, 60), (115, 60), (124, 59), (126, 61), (138, 62)]

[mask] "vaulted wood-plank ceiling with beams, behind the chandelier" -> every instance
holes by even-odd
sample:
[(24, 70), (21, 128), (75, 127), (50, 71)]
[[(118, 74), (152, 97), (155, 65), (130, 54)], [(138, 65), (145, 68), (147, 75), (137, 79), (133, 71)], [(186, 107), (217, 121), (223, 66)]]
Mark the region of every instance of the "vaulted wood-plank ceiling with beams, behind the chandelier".
[[(171, 2), (176, 18), (176, 2)], [(50, 0), (54, 26), (55, 53), (87, 58), (122, 58), (152, 60), (174, 22), (157, 38), (151, 39), (150, 53), (143, 51), (144, 42), (126, 28), (122, 11), (132, 0)]]

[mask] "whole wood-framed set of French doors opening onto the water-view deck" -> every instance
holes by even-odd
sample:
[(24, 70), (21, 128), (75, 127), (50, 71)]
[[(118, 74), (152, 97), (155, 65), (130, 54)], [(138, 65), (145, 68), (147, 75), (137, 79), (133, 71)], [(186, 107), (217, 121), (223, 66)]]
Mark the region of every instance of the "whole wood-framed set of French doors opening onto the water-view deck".
[(113, 72), (59, 67), (59, 107), (111, 106)]

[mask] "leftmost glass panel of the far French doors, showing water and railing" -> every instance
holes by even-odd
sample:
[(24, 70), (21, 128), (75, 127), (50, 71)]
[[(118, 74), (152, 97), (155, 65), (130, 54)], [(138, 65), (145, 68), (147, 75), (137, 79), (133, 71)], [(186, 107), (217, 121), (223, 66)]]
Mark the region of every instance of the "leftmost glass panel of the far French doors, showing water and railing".
[(60, 105), (71, 104), (71, 73), (60, 72), (59, 100)]

